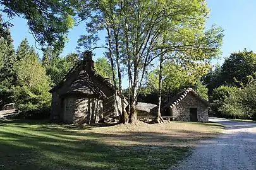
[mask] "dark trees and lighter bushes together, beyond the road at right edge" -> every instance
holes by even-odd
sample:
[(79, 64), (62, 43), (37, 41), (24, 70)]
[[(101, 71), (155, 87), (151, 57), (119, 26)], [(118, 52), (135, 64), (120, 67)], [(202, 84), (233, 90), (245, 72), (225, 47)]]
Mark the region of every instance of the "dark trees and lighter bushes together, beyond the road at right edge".
[(212, 110), (217, 116), (256, 120), (255, 65), (256, 54), (245, 49), (232, 53), (204, 77), (210, 96), (213, 89)]

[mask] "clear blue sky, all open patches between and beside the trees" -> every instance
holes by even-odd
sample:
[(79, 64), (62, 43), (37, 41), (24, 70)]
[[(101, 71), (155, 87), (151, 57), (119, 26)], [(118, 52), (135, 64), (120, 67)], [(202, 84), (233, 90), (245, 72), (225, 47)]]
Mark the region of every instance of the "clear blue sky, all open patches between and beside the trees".
[[(256, 52), (256, 1), (255, 0), (209, 0), (210, 8), (207, 27), (212, 24), (221, 26), (224, 29), (221, 59), (214, 60), (212, 64), (222, 64), (223, 58), (228, 57), (232, 52), (243, 50), (253, 50)], [(27, 21), (23, 18), (15, 18), (11, 21), (14, 26), (11, 28), (11, 35), (14, 39), (15, 48), (23, 38), (28, 38), (30, 45), (35, 45), (35, 40), (28, 32)], [(85, 33), (84, 25), (81, 24), (70, 30), (69, 42), (63, 51), (63, 56), (75, 52), (76, 42), (80, 35)], [(104, 39), (104, 34), (102, 34)], [(104, 40), (99, 42), (103, 44)], [(94, 50), (95, 59), (102, 57), (103, 49)], [(39, 50), (39, 54), (42, 54)]]

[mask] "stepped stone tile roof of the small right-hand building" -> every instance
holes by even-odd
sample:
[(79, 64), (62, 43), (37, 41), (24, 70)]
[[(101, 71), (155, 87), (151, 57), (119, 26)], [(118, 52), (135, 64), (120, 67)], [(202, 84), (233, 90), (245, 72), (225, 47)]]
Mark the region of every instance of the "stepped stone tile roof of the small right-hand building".
[(173, 106), (177, 105), (182, 99), (188, 95), (188, 93), (194, 94), (202, 103), (204, 103), (205, 106), (210, 106), (209, 101), (204, 99), (202, 96), (200, 96), (196, 91), (194, 91), (192, 88), (188, 88), (185, 91), (182, 91), (181, 93), (178, 93), (176, 96), (174, 96), (171, 101), (169, 101), (166, 105), (164, 105), (163, 108), (167, 108), (168, 106), (173, 108)]

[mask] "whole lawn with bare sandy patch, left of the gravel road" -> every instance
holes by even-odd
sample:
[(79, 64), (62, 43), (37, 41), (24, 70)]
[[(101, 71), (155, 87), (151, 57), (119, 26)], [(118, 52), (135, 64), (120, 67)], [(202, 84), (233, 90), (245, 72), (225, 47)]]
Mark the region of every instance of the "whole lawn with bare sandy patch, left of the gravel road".
[(167, 169), (217, 123), (58, 125), (0, 121), (0, 169)]

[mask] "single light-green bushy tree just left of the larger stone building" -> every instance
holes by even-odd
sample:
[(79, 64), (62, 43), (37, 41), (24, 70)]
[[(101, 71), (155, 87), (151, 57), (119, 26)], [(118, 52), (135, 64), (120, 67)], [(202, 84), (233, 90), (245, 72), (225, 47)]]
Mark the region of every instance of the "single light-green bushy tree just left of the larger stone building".
[(13, 99), (24, 116), (50, 107), (50, 79), (39, 62), (38, 55), (30, 48), (28, 54), (15, 64), (17, 84), (13, 87)]

